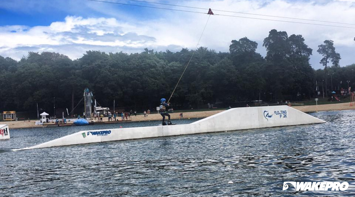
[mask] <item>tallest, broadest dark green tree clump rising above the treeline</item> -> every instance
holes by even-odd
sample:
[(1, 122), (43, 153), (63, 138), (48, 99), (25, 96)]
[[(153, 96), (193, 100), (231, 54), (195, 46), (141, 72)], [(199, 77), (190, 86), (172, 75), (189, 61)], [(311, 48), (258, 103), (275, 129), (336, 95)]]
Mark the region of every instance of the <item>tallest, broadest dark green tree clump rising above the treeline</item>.
[(313, 69), (309, 59), (312, 49), (304, 43), (302, 35), (290, 35), (272, 29), (264, 39), (266, 47), (266, 87), (275, 100), (292, 99), (297, 93), (312, 92)]

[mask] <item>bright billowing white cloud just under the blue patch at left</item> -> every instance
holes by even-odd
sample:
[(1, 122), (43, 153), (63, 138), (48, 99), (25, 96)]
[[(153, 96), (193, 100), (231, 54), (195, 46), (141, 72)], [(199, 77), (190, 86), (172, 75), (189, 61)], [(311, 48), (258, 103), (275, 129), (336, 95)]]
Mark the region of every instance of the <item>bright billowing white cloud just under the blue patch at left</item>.
[[(27, 31), (25, 31), (28, 29)], [(93, 46), (105, 50), (117, 49), (112, 47), (129, 47), (141, 50), (146, 45), (155, 42), (155, 38), (138, 35), (130, 30), (139, 27), (126, 23), (119, 23), (115, 18), (82, 18), (68, 16), (64, 22), (53, 22), (50, 26), (6, 26), (0, 29), (0, 54), (20, 59), (27, 54), (27, 50), (44, 51), (67, 47), (64, 54), (73, 59), (79, 58), (86, 50), (97, 50)], [(128, 31), (127, 31), (128, 30)], [(76, 46), (71, 47), (70, 45)], [(82, 48), (77, 46), (82, 45)], [(90, 47), (88, 47), (90, 46)], [(73, 49), (80, 49), (80, 55), (73, 53)], [(12, 53), (15, 50), (20, 53)], [(22, 51), (21, 51), (22, 50)], [(130, 50), (132, 51), (132, 50)], [(22, 53), (21, 53), (22, 52)], [(13, 56), (15, 55), (15, 56)]]

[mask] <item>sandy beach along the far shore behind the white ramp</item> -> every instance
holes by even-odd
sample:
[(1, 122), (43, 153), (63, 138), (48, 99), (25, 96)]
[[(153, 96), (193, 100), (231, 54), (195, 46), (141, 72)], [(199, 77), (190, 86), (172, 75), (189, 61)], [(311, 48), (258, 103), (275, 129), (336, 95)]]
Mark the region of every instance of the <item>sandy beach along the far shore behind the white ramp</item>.
[[(300, 110), (305, 113), (317, 112), (317, 111), (339, 111), (339, 110), (354, 110), (355, 106), (350, 106), (350, 103), (334, 103), (334, 104), (324, 104), (324, 105), (307, 105), (307, 106), (292, 106), (293, 108)], [(220, 113), (225, 110), (211, 110), (211, 111), (192, 111), (183, 113), (183, 117), (180, 118), (180, 113), (171, 113), (171, 120), (174, 119), (189, 119), (189, 118), (205, 118), (212, 116), (214, 114)], [(118, 117), (121, 119), (121, 117)], [(162, 120), (162, 116), (158, 113), (149, 114), (147, 117), (144, 115), (131, 116), (131, 121), (118, 121), (118, 122), (108, 122), (108, 117), (103, 118), (103, 122), (108, 124), (119, 123), (119, 122), (137, 122), (137, 121), (152, 121), (152, 120)], [(38, 128), (38, 127), (48, 127), (48, 126), (57, 126), (53, 123), (47, 125), (35, 125), (35, 121), (1, 121), (0, 124), (8, 124), (9, 129), (12, 128)], [(174, 122), (174, 121), (173, 121)], [(99, 123), (104, 124), (104, 123)], [(61, 126), (71, 126), (71, 123)]]

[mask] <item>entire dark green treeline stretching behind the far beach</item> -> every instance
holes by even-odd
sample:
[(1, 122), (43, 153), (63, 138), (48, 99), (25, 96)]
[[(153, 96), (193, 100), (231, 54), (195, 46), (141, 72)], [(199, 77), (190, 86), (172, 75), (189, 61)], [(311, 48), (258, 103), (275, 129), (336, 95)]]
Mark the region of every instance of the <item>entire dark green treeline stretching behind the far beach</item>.
[[(333, 46), (332, 41), (328, 46), (324, 43), (324, 47)], [(351, 72), (355, 65), (339, 67), (340, 55), (333, 61), (326, 54), (326, 69), (314, 71), (309, 63), (312, 49), (302, 35), (288, 36), (273, 29), (263, 46), (265, 58), (256, 53), (257, 43), (246, 37), (232, 40), (229, 53), (198, 48), (171, 103), (175, 109), (184, 109), (205, 108), (207, 103), (237, 106), (259, 98), (271, 103), (306, 99), (312, 97), (316, 80), (320, 85), (328, 79), (331, 89), (328, 73), (334, 73), (333, 83), (343, 81), (343, 88), (347, 80), (351, 85), (355, 82), (355, 71)], [(0, 56), (0, 110), (35, 110), (38, 103), (50, 113), (55, 102), (56, 108), (71, 111), (86, 87), (101, 106), (112, 108), (115, 99), (116, 107), (152, 110), (160, 98), (169, 98), (193, 52), (87, 51), (77, 60), (51, 52), (29, 52), (20, 61)], [(327, 66), (329, 61), (332, 67)], [(81, 111), (78, 105), (77, 113)]]

